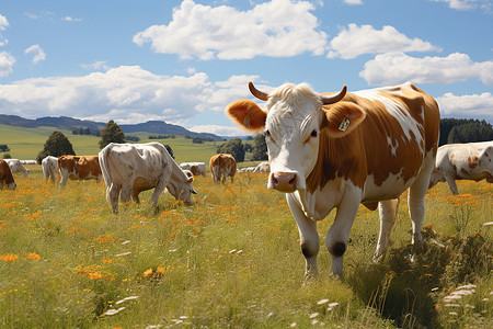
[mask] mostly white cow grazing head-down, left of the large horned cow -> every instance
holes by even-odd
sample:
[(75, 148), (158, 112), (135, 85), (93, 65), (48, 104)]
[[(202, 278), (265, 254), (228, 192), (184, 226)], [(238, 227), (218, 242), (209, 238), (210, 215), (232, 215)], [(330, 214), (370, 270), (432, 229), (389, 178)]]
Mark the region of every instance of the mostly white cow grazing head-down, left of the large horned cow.
[[(159, 195), (168, 189), (176, 200), (192, 203), (196, 194), (190, 170), (180, 169), (162, 144), (110, 143), (100, 154), (100, 163), (106, 184), (106, 198), (114, 214), (118, 213), (118, 195), (122, 202), (139, 203), (139, 193), (154, 189), (151, 196), (156, 208)], [(122, 192), (122, 193), (121, 193)]]

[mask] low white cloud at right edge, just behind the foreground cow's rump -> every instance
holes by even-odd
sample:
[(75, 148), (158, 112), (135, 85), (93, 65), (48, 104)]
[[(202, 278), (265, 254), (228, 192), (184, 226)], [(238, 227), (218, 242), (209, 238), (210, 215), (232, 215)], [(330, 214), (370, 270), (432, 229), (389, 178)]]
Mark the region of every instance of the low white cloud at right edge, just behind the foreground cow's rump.
[(493, 95), (490, 92), (468, 95), (446, 93), (436, 100), (443, 116), (481, 118), (493, 122)]

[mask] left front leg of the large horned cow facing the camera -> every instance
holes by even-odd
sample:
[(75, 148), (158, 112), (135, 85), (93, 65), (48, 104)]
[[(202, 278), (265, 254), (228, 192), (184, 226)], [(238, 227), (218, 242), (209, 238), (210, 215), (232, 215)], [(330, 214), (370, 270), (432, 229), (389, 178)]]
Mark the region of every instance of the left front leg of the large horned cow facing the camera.
[(317, 256), (320, 250), (320, 240), (317, 231), (317, 222), (305, 215), (291, 193), (286, 194), (286, 198), (289, 208), (291, 209), (291, 214), (295, 217), (296, 224), (298, 225), (301, 252), (305, 256), (306, 262), (305, 282), (307, 282), (318, 275)]

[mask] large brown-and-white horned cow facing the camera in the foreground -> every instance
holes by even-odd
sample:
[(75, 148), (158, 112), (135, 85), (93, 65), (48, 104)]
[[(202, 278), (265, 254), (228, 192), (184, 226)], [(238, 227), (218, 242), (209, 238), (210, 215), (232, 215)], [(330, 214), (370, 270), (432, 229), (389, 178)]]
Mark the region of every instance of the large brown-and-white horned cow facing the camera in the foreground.
[(409, 189), (412, 242), (422, 243), (424, 196), (435, 163), (439, 111), (412, 83), (318, 94), (306, 83), (283, 84), (265, 93), (265, 111), (251, 100), (228, 105), (227, 114), (249, 132), (265, 129), (271, 163), (267, 188), (286, 193), (299, 228), (305, 277), (317, 275), (317, 220), (336, 208), (326, 236), (332, 272), (342, 276), (343, 254), (359, 203), (376, 209), (381, 259), (395, 220), (398, 198)]

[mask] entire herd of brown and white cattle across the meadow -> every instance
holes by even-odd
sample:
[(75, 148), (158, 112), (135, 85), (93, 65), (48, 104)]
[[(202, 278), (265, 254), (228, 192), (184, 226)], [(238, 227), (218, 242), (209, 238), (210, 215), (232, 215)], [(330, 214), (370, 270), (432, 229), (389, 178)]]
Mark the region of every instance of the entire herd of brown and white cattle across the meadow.
[[(422, 243), (426, 191), (447, 181), (458, 194), (455, 180), (486, 179), (493, 182), (493, 141), (438, 147), (439, 111), (436, 101), (412, 83), (347, 92), (318, 94), (306, 83), (286, 83), (270, 93), (249, 84), (251, 93), (266, 102), (261, 109), (251, 100), (229, 104), (229, 117), (251, 133), (265, 132), (268, 162), (237, 170), (231, 155), (210, 158), (215, 183), (236, 172), (266, 172), (267, 188), (286, 193), (299, 228), (306, 259), (306, 279), (317, 275), (320, 249), (317, 220), (336, 208), (326, 236), (332, 272), (342, 275), (349, 230), (359, 204), (379, 207), (380, 234), (374, 254), (380, 260), (395, 222), (399, 196), (409, 190), (413, 223), (412, 243)], [(7, 162), (5, 162), (7, 161)], [(1, 186), (15, 189), (12, 172), (27, 170), (19, 160), (0, 160)], [(139, 202), (139, 193), (154, 189), (156, 206), (167, 189), (176, 200), (191, 203), (194, 175), (206, 175), (204, 162), (177, 164), (159, 143), (110, 144), (98, 156), (46, 157), (45, 180), (58, 172), (64, 189), (68, 179), (104, 180), (113, 213), (122, 202)]]

